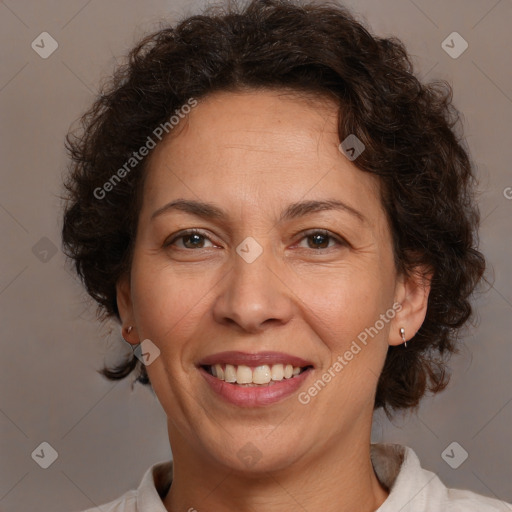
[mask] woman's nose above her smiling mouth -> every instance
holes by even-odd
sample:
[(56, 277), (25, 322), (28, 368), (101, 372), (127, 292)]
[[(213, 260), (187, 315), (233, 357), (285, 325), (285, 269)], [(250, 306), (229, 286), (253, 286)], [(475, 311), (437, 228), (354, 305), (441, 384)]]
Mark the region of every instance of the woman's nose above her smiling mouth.
[(250, 333), (285, 325), (294, 311), (288, 273), (270, 249), (249, 261), (234, 253), (231, 270), (218, 283), (213, 307), (215, 320)]

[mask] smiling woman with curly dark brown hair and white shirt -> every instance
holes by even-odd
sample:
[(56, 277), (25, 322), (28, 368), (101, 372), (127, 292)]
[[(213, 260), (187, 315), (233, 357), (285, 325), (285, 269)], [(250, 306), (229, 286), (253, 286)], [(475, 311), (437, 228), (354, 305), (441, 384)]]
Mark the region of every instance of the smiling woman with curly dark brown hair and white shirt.
[(342, 7), (210, 10), (131, 52), (68, 137), (63, 240), (173, 462), (103, 511), (507, 510), (370, 443), (446, 386), (484, 273), (456, 121)]

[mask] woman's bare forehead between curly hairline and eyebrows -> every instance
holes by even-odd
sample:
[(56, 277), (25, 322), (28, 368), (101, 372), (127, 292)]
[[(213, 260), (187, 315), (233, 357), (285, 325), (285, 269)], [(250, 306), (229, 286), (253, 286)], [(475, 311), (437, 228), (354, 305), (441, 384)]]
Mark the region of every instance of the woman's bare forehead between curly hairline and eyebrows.
[(358, 169), (338, 145), (338, 107), (327, 97), (215, 93), (150, 155), (144, 204), (188, 197), (261, 210), (328, 196), (377, 214), (377, 177)]

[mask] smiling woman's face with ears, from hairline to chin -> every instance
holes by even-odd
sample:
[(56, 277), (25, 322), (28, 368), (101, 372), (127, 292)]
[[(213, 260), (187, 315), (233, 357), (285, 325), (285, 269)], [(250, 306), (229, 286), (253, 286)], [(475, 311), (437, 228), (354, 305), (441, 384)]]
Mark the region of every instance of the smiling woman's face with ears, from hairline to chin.
[[(150, 157), (131, 274), (118, 284), (129, 341), (160, 351), (147, 371), (173, 452), (243, 468), (250, 446), (270, 469), (364, 437), (387, 348), (400, 326), (408, 338), (419, 328), (426, 297), (396, 273), (378, 179), (338, 149), (336, 106), (222, 92), (181, 123)], [(178, 199), (216, 213), (169, 205)], [(290, 208), (311, 201), (339, 206)], [(227, 351), (256, 356), (219, 364), (268, 363), (271, 378), (272, 363), (308, 369), (240, 386), (201, 366)]]

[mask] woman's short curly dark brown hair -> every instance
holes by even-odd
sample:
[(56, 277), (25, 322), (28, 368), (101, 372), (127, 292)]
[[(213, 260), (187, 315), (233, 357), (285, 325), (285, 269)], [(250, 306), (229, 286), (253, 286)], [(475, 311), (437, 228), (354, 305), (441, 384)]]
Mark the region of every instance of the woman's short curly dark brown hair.
[[(214, 5), (140, 41), (66, 137), (64, 252), (98, 317), (119, 319), (116, 282), (130, 269), (147, 158), (101, 200), (95, 191), (191, 97), (262, 88), (335, 99), (340, 141), (357, 134), (366, 150), (353, 163), (380, 177), (397, 270), (433, 270), (425, 321), (406, 349), (388, 348), (375, 396), (388, 416), (417, 408), (446, 387), (447, 358), (484, 275), (476, 178), (450, 85), (420, 82), (399, 39), (372, 35), (342, 6)], [(136, 368), (151, 385), (135, 356), (100, 373), (122, 379)]]

